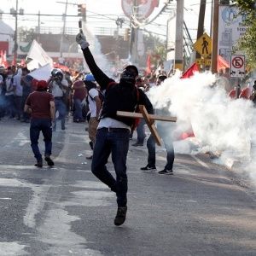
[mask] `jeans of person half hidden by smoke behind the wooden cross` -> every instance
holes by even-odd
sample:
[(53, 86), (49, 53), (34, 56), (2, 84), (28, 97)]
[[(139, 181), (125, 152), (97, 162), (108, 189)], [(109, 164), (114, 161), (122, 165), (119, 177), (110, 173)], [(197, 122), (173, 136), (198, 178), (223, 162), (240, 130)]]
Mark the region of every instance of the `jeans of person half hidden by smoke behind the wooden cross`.
[[(166, 170), (172, 170), (173, 162), (174, 162), (174, 149), (172, 144), (172, 139), (170, 137), (162, 137), (165, 148), (166, 148)], [(153, 167), (155, 166), (155, 141), (154, 137), (150, 135), (147, 141), (147, 148), (148, 148), (148, 166)]]

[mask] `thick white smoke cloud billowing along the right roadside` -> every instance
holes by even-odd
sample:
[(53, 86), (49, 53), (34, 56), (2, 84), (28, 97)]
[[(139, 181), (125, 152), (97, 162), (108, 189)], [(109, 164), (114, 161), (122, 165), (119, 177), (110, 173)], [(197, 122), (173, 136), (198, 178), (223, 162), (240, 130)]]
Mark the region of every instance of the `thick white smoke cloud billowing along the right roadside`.
[[(195, 73), (179, 79), (180, 73), (149, 90), (155, 108), (168, 108), (177, 117), (176, 128), (170, 124), (174, 140), (183, 131), (193, 131), (195, 138), (177, 143), (179, 153), (218, 154), (218, 163), (231, 166), (238, 161), (246, 166), (256, 182), (255, 109), (245, 99), (231, 99), (212, 73)], [(188, 144), (189, 143), (189, 144)], [(181, 147), (178, 147), (178, 146)]]

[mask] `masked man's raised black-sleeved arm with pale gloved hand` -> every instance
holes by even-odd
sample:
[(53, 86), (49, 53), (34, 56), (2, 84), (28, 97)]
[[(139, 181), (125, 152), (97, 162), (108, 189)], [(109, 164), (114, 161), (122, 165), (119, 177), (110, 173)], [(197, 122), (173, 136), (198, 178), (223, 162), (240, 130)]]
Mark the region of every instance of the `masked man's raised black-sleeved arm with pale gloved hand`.
[(82, 30), (80, 30), (79, 34), (77, 35), (76, 41), (78, 44), (80, 44), (81, 49), (83, 50), (84, 59), (90, 68), (90, 72), (93, 74), (96, 82), (101, 86), (101, 89), (105, 90), (113, 79), (108, 78), (108, 76), (102, 72), (102, 69), (97, 66), (96, 61), (90, 52), (89, 43), (86, 41)]

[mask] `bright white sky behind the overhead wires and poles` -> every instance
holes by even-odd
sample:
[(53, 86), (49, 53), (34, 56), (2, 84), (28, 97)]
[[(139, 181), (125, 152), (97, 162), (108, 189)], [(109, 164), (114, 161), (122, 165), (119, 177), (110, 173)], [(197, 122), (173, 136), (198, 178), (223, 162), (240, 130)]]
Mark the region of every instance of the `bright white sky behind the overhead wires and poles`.
[[(58, 3), (61, 2), (61, 3)], [(211, 1), (207, 1), (207, 13), (205, 26), (207, 32), (210, 30), (210, 16), (211, 16)], [(15, 8), (16, 0), (1, 0), (1, 10), (3, 12), (9, 12), (11, 8)], [(66, 0), (44, 0), (44, 1), (32, 1), (32, 0), (19, 0), (18, 9), (24, 9), (25, 14), (38, 14), (38, 11), (42, 15), (62, 15), (65, 12)], [(92, 30), (96, 30), (96, 27), (111, 27), (116, 28), (115, 20), (118, 17), (125, 17), (121, 0), (68, 0), (68, 3), (86, 3), (87, 7), (87, 26), (91, 26)], [(111, 4), (110, 4), (111, 3)], [(149, 17), (149, 20), (157, 14), (163, 7), (165, 0), (160, 0), (159, 8), (154, 10), (154, 13)], [(175, 1), (174, 1), (175, 3)], [(196, 29), (198, 23), (198, 13), (200, 7), (200, 0), (184, 0), (184, 20), (189, 27), (189, 32), (192, 38), (196, 37)], [(68, 4), (67, 15), (77, 15), (77, 5)], [(129, 27), (129, 20), (125, 17), (126, 22), (124, 27)], [(160, 18), (154, 20), (153, 25), (145, 26), (148, 31), (158, 33), (160, 35), (166, 35), (166, 21), (168, 15), (161, 15)], [(78, 26), (79, 17), (68, 17), (67, 27), (76, 28)], [(3, 15), (3, 21), (8, 23), (9, 26), (15, 28), (15, 17), (11, 15)], [(33, 15), (19, 15), (19, 25), (26, 27), (38, 26), (38, 16)], [(61, 16), (41, 16), (41, 27), (52, 26), (61, 27), (63, 21)]]

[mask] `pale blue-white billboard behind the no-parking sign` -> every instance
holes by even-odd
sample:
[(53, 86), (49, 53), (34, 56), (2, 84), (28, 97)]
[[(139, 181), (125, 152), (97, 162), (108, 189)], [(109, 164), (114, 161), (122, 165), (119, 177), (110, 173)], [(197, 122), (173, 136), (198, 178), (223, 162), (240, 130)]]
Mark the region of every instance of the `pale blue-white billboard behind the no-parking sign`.
[(245, 16), (239, 14), (239, 9), (231, 6), (219, 6), (218, 15), (218, 55), (230, 63), (234, 46), (246, 32), (243, 24)]

